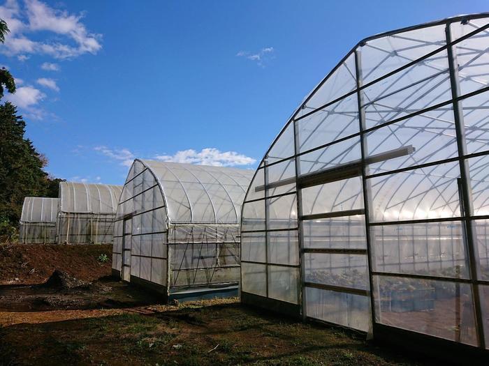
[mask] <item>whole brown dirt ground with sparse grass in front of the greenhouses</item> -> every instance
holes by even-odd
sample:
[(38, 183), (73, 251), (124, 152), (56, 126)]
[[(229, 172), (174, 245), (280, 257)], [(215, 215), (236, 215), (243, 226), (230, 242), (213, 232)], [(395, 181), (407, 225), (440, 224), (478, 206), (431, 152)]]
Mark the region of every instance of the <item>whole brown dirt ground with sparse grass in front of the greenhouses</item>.
[[(66, 258), (76, 266), (61, 260), (59, 248), (71, 253)], [(0, 280), (19, 280), (0, 287), (0, 365), (435, 364), (354, 333), (244, 307), (237, 298), (161, 305), (146, 291), (108, 277), (110, 265), (93, 263), (101, 247), (9, 250), (19, 271), (9, 264)], [(65, 270), (38, 275), (36, 282), (20, 270), (23, 261), (36, 258), (26, 252)], [(57, 260), (47, 258), (52, 254)], [(29, 263), (39, 273), (52, 268)], [(96, 270), (77, 273), (84, 263)]]

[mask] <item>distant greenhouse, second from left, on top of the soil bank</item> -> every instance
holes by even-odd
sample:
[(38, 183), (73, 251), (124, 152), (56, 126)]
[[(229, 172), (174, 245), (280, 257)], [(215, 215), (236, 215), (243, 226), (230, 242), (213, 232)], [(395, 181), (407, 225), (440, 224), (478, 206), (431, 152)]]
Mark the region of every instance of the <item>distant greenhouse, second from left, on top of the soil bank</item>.
[(57, 243), (112, 243), (121, 191), (120, 185), (59, 183)]

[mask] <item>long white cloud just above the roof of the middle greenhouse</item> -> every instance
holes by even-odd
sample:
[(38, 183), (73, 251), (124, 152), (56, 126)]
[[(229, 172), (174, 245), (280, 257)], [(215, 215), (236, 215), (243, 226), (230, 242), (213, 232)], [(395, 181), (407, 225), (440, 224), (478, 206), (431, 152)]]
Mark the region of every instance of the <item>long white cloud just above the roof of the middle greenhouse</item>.
[(157, 155), (155, 158), (165, 162), (184, 162), (198, 165), (214, 165), (215, 167), (235, 167), (251, 165), (256, 162), (254, 158), (249, 158), (235, 151), (221, 152), (217, 148), (203, 148), (202, 151), (195, 151), (190, 148), (177, 151), (174, 155)]

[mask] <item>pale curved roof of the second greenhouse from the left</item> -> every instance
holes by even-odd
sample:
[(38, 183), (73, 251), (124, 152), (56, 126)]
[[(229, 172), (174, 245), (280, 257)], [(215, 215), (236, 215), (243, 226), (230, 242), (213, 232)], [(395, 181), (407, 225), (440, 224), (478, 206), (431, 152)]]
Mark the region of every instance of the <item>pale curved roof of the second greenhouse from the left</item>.
[(114, 215), (121, 192), (122, 185), (61, 182), (60, 211)]

